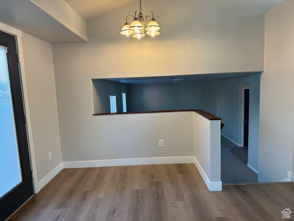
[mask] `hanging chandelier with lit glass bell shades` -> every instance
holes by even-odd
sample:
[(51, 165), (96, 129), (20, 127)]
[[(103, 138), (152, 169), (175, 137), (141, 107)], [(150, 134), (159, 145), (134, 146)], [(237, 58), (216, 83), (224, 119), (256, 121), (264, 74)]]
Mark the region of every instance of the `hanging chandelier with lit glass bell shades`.
[[(149, 13), (152, 13), (152, 17), (148, 15)], [(137, 18), (138, 14), (138, 18)], [(135, 16), (133, 16), (134, 20), (131, 23), (131, 26), (128, 24), (127, 19), (129, 16), (126, 17), (126, 23), (121, 29), (121, 34), (125, 35), (126, 37), (129, 37), (132, 35), (133, 38), (141, 39), (141, 37), (144, 37), (144, 25), (146, 24), (146, 34), (150, 35), (151, 37), (155, 37), (156, 35), (159, 35), (160, 32), (158, 31), (160, 27), (158, 26), (157, 22), (153, 18), (153, 12), (148, 11), (146, 13), (145, 19), (143, 17), (143, 14), (141, 13), (141, 0), (140, 0), (140, 13), (138, 11), (135, 11)], [(148, 17), (151, 18), (151, 21), (148, 21)], [(149, 22), (149, 23), (148, 23)]]

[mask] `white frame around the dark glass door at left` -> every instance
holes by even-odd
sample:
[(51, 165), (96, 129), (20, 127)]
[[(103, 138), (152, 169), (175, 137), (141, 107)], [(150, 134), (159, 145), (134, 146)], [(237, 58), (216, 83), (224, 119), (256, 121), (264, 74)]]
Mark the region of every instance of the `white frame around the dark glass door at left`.
[(23, 95), (23, 102), (24, 102), (24, 113), (26, 114), (26, 119), (27, 119), (26, 133), (28, 136), (31, 170), (33, 171), (34, 193), (36, 194), (37, 192), (39, 192), (39, 187), (38, 187), (36, 160), (35, 160), (35, 152), (34, 152), (34, 144), (33, 144), (33, 133), (32, 133), (31, 117), (30, 117), (30, 109), (29, 109), (29, 98), (28, 98), (28, 91), (26, 87), (26, 73), (24, 70), (24, 55), (23, 55), (22, 43), (21, 43), (22, 31), (14, 27), (11, 27), (7, 24), (4, 24), (2, 22), (0, 22), (0, 31), (12, 34), (16, 38), (16, 48), (20, 58), (19, 72), (21, 75), (21, 87), (22, 87), (22, 95)]

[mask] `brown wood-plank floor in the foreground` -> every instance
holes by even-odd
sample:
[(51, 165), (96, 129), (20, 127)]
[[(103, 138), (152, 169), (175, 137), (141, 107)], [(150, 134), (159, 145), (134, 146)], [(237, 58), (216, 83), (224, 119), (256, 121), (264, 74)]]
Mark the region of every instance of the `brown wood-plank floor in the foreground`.
[(294, 183), (210, 192), (194, 164), (113, 166), (63, 169), (9, 221), (283, 220), (286, 208), (294, 218)]

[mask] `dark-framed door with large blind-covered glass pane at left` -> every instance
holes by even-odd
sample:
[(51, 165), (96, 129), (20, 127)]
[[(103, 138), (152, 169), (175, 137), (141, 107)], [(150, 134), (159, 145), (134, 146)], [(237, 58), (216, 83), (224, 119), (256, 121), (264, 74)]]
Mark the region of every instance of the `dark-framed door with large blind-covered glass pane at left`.
[(0, 31), (0, 221), (33, 194), (16, 38)]

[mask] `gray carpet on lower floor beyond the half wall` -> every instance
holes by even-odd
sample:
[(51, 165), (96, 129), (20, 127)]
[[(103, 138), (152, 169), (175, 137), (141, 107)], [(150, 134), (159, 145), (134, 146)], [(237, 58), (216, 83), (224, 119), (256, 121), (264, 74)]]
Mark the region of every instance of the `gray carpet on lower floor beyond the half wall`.
[(220, 180), (223, 184), (257, 182), (258, 175), (230, 151), (235, 147), (236, 144), (220, 136)]

